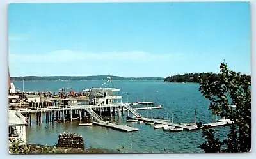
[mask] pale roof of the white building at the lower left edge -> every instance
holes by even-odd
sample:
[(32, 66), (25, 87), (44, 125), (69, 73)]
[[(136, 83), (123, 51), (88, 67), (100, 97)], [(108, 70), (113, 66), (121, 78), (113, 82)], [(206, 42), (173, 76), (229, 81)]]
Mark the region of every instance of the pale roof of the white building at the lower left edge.
[(9, 110), (9, 126), (26, 125), (26, 118), (17, 110)]

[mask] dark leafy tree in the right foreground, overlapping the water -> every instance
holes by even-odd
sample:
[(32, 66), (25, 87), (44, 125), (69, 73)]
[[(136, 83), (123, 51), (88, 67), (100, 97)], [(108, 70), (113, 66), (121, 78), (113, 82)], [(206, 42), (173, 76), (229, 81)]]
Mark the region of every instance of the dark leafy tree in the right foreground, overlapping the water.
[[(207, 142), (200, 145), (206, 153), (248, 152), (251, 149), (251, 79), (248, 75), (229, 70), (226, 63), (220, 65), (220, 75), (207, 73), (200, 79), (200, 91), (211, 101), (213, 114), (230, 119), (227, 139), (214, 138), (214, 130), (202, 130)], [(230, 107), (235, 105), (235, 107)], [(222, 146), (225, 145), (225, 148)]]

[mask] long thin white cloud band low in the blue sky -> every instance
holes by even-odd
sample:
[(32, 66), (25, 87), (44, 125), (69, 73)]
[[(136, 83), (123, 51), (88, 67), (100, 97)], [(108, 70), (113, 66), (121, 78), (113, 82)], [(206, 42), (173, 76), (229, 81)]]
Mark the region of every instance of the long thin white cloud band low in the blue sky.
[(71, 50), (58, 50), (45, 54), (10, 54), (10, 63), (69, 63), (75, 61), (100, 62), (120, 61), (131, 63), (159, 62), (177, 59), (182, 54), (152, 54), (142, 51), (131, 52), (73, 52)]

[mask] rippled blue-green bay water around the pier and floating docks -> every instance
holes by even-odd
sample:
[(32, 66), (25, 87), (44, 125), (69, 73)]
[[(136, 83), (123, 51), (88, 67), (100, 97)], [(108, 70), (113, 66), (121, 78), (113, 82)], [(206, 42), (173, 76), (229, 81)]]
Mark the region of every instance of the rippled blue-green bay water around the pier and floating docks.
[[(56, 91), (69, 82), (61, 81), (29, 81), (24, 82), (25, 91)], [(22, 82), (15, 82), (17, 89), (22, 90)], [(102, 87), (102, 81), (71, 81), (75, 91), (84, 88)], [(162, 105), (163, 109), (138, 110), (144, 117), (172, 117), (175, 123), (195, 122), (195, 107), (197, 121), (212, 122), (211, 112), (208, 110), (209, 101), (198, 91), (198, 84), (176, 84), (161, 81), (113, 81), (113, 87), (120, 88), (117, 95), (123, 96), (123, 102), (151, 101)], [(126, 114), (126, 113), (125, 113)], [(35, 119), (35, 117), (34, 117)], [(45, 120), (45, 118), (44, 118)], [(125, 117), (115, 121), (125, 123)], [(65, 132), (83, 135), (86, 147), (105, 148), (116, 150), (124, 146), (126, 153), (198, 153), (197, 148), (204, 139), (201, 130), (194, 132), (164, 132), (154, 130), (149, 125), (128, 123), (140, 130), (138, 132), (119, 132), (100, 126), (84, 127), (72, 123), (45, 123), (34, 124), (26, 128), (29, 143), (56, 144), (58, 134)], [(225, 137), (228, 127), (216, 128), (219, 137)]]

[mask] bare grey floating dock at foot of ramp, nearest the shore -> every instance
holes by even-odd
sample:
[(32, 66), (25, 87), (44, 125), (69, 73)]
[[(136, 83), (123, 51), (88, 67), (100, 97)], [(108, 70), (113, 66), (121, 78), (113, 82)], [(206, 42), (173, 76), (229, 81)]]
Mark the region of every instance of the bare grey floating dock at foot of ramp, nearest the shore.
[(132, 127), (129, 127), (129, 126), (118, 125), (118, 124), (107, 123), (107, 122), (104, 122), (104, 123), (93, 122), (93, 124), (99, 125), (99, 126), (104, 126), (104, 127), (107, 127), (107, 128), (113, 128), (115, 130), (120, 130), (122, 132), (134, 132), (134, 131), (139, 130), (138, 128), (132, 128)]

